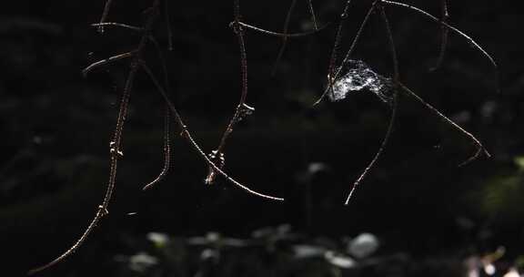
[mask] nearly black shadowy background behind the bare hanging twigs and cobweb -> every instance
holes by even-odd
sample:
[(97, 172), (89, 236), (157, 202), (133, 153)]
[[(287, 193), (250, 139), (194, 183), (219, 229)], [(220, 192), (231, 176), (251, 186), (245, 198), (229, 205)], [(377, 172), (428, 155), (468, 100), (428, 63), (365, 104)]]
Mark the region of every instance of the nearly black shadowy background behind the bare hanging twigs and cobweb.
[[(133, 2), (133, 3), (130, 3)], [(207, 152), (240, 95), (237, 38), (228, 27), (231, 1), (173, 1), (174, 50), (166, 52), (172, 98)], [(290, 1), (242, 1), (243, 19), (281, 30)], [(311, 28), (306, 1), (297, 1), (290, 30)], [(319, 22), (337, 20), (343, 1), (313, 1)], [(341, 50), (348, 49), (370, 1), (354, 1)], [(439, 1), (415, 3), (433, 15)], [(116, 1), (110, 21), (140, 25), (147, 1)], [(131, 49), (138, 36), (89, 24), (102, 1), (17, 1), (0, 9), (0, 252), (2, 276), (20, 276), (67, 249), (101, 203), (108, 173), (108, 143), (116, 122), (126, 65), (81, 70)], [(524, 67), (522, 14), (504, 1), (452, 1), (450, 22), (472, 36), (499, 63), (501, 93), (489, 62), (451, 35), (443, 66), (439, 27), (388, 7), (401, 79), (421, 97), (477, 136), (489, 149), (466, 167), (475, 149), (412, 98), (399, 98), (398, 122), (384, 156), (343, 206), (350, 184), (378, 149), (388, 107), (366, 91), (311, 108), (326, 83), (336, 26), (288, 41), (271, 77), (281, 39), (247, 31), (249, 94), (256, 108), (229, 140), (227, 172), (252, 189), (286, 198), (258, 199), (219, 180), (203, 183), (207, 166), (174, 136), (172, 169), (154, 190), (141, 190), (162, 168), (162, 101), (139, 75), (131, 96), (110, 216), (75, 256), (42, 276), (96, 275), (123, 238), (148, 231), (176, 236), (220, 231), (244, 237), (264, 226), (290, 223), (312, 236), (378, 235), (384, 251), (417, 256), (458, 249), (523, 254), (524, 198), (521, 128)], [(156, 25), (166, 46), (166, 26)], [(371, 17), (353, 56), (391, 75), (388, 44), (378, 15)], [(158, 70), (153, 49), (147, 56)], [(342, 55), (342, 54), (340, 54)], [(177, 131), (176, 133), (177, 134)], [(520, 159), (521, 160), (521, 159)], [(312, 163), (325, 170), (308, 173)], [(127, 215), (128, 213), (134, 215)], [(73, 269), (86, 268), (81, 273)], [(76, 273), (75, 273), (76, 272)]]

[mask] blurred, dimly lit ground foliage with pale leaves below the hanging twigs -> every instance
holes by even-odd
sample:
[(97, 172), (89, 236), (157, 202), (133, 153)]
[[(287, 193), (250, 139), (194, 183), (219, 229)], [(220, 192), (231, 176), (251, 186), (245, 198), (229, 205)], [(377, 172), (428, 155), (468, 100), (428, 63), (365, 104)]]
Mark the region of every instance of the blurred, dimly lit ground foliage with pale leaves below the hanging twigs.
[(140, 243), (132, 243), (133, 254), (116, 255), (114, 276), (511, 277), (519, 267), (518, 261), (503, 259), (504, 248), (421, 259), (380, 251), (378, 238), (370, 233), (332, 239), (292, 232), (288, 225), (254, 231), (242, 240), (217, 232), (188, 238), (151, 232), (136, 240)]

